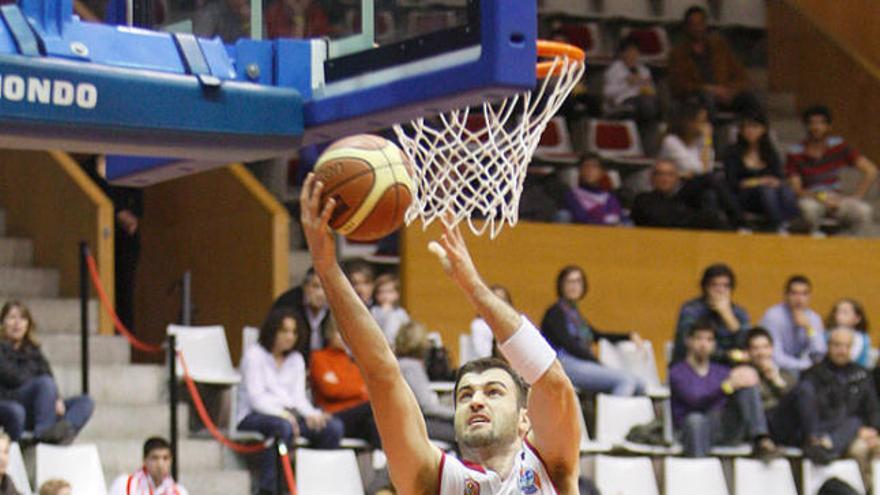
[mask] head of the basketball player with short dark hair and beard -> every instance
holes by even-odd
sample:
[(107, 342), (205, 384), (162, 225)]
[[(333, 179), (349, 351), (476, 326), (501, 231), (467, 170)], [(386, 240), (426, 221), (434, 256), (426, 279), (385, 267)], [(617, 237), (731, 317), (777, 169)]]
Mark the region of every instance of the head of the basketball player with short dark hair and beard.
[(515, 442), (523, 411), (517, 405), (516, 384), (502, 369), (467, 373), (458, 384), (455, 437), (464, 448)]

